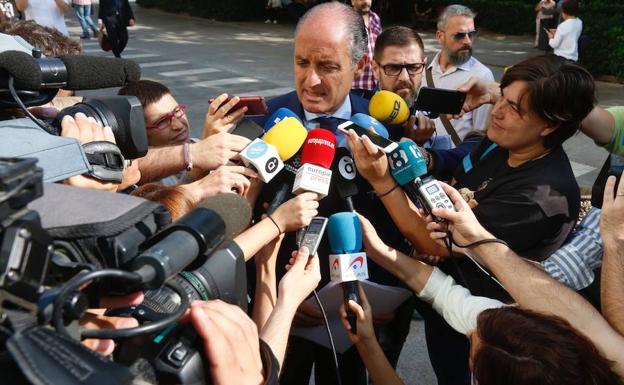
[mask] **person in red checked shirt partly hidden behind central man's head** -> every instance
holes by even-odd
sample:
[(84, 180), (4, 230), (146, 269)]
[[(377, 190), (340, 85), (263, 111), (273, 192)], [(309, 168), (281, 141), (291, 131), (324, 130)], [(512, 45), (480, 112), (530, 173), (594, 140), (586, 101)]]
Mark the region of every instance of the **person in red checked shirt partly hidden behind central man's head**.
[(372, 90), (377, 85), (375, 75), (373, 74), (373, 52), (375, 51), (375, 40), (381, 33), (381, 19), (379, 15), (373, 12), (371, 8), (372, 0), (351, 0), (351, 5), (362, 18), (366, 25), (366, 32), (368, 33), (368, 46), (364, 53), (364, 68), (358, 72), (357, 76), (353, 80), (351, 88), (361, 90)]

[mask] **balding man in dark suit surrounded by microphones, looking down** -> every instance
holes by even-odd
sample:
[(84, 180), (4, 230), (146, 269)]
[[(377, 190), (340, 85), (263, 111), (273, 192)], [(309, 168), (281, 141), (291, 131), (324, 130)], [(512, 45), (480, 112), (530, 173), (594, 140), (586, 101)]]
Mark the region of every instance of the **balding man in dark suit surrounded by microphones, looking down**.
[[(322, 127), (336, 131), (336, 126), (349, 120), (355, 113), (368, 113), (368, 101), (350, 93), (351, 82), (361, 70), (362, 56), (366, 50), (367, 35), (362, 17), (351, 7), (338, 2), (329, 2), (312, 8), (300, 20), (295, 32), (294, 77), (296, 90), (268, 102), (269, 115), (280, 107), (286, 107), (297, 114), (304, 126), (310, 130)], [(342, 134), (336, 132), (340, 146)], [(346, 145), (346, 144), (345, 144)], [(334, 162), (338, 160), (335, 159)], [(278, 179), (278, 178), (276, 178)], [(361, 177), (356, 176), (358, 194), (353, 197), (356, 210), (371, 221), (381, 237), (394, 247), (407, 251), (403, 236), (389, 219), (377, 193)], [(280, 183), (272, 182), (261, 192), (257, 213), (262, 212), (264, 202), (270, 202)], [(320, 201), (319, 215), (330, 216), (345, 211), (344, 201), (330, 189), (330, 194)], [(295, 250), (293, 233), (284, 238), (277, 261), (277, 275), (284, 274), (283, 267)], [(329, 245), (324, 237), (318, 249), (321, 261), (322, 280), (319, 288), (329, 281)], [(381, 267), (369, 261), (370, 280), (392, 286), (399, 286)], [(253, 286), (251, 286), (253, 287)], [(411, 300), (406, 301), (390, 317), (391, 321), (379, 328), (380, 343), (390, 362), (396, 365), (403, 342), (409, 331), (412, 313)], [(331, 309), (335, 311), (336, 309)], [(301, 306), (295, 317), (295, 327), (322, 325), (316, 309)], [(342, 384), (365, 385), (366, 372), (355, 347), (339, 355)], [(325, 347), (308, 340), (291, 336), (282, 370), (281, 384), (307, 384), (312, 364), (315, 367), (317, 384), (335, 384), (331, 352)]]

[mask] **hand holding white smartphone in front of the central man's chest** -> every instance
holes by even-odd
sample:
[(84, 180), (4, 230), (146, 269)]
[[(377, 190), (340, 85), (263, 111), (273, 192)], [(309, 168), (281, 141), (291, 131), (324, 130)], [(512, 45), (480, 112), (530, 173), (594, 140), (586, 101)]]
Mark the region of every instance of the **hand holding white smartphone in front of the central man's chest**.
[(386, 177), (390, 177), (386, 154), (377, 148), (368, 137), (359, 137), (353, 130), (349, 130), (345, 137), (360, 175), (373, 185)]

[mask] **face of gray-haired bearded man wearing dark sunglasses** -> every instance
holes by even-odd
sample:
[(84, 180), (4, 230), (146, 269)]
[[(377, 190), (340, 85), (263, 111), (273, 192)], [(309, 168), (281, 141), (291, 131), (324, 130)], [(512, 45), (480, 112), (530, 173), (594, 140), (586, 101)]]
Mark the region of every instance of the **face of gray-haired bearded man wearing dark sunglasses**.
[(473, 40), (467, 35), (474, 32), (474, 19), (466, 16), (451, 16), (444, 31), (437, 31), (442, 54), (454, 65), (462, 65), (472, 56)]

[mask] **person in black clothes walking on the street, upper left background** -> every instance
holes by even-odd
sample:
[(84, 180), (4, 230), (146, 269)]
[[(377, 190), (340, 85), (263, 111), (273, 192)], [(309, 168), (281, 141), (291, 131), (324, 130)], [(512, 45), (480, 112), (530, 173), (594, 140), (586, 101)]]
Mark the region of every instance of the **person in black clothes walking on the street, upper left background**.
[(128, 44), (128, 26), (132, 27), (135, 23), (128, 0), (100, 0), (98, 18), (106, 27), (113, 54), (121, 57)]

